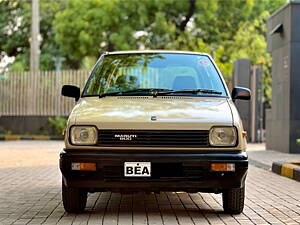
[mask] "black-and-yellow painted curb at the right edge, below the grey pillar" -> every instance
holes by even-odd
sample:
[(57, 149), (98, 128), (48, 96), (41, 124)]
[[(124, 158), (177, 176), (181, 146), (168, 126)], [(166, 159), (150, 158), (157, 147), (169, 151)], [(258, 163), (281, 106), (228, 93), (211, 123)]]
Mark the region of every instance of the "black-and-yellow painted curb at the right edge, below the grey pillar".
[(272, 171), (281, 176), (300, 181), (300, 161), (298, 162), (273, 162)]

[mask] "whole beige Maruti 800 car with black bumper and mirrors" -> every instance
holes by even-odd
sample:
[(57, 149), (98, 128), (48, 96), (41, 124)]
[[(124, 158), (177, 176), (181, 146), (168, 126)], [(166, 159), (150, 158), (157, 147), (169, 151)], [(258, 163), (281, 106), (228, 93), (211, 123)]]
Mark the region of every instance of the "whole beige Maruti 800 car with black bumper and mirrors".
[(221, 193), (227, 213), (244, 206), (248, 158), (236, 99), (213, 59), (181, 51), (107, 52), (82, 91), (64, 85), (76, 106), (60, 154), (67, 212), (87, 193)]

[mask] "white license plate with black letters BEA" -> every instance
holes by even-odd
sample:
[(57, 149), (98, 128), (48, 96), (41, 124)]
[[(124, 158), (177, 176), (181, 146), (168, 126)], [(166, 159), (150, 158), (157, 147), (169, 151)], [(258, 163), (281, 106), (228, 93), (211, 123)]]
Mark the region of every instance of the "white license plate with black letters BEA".
[(151, 162), (124, 162), (125, 177), (150, 177)]

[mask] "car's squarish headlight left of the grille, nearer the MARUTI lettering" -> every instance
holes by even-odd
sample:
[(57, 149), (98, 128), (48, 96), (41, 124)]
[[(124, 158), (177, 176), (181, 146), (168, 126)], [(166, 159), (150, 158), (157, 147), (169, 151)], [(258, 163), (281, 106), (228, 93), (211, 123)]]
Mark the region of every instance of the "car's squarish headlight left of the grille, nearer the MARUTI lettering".
[(74, 145), (94, 145), (97, 143), (97, 129), (92, 126), (74, 126), (71, 128), (70, 135)]

